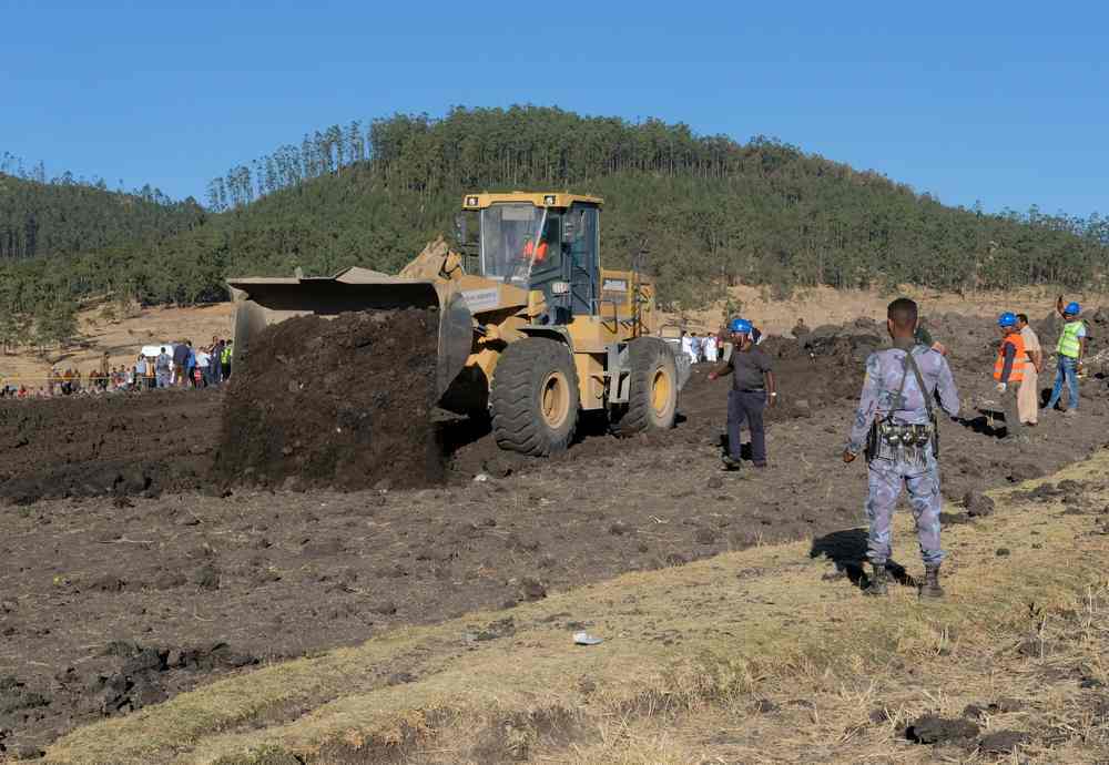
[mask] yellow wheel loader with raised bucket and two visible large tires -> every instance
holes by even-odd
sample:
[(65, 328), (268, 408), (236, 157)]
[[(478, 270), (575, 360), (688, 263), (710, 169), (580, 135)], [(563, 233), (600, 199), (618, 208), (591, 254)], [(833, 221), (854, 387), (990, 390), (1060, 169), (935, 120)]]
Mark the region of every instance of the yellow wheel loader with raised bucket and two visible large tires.
[(601, 268), (601, 205), (576, 194), (467, 194), (460, 252), (439, 239), (398, 276), (230, 279), (233, 364), (256, 333), (293, 316), (431, 308), (439, 406), (488, 415), (501, 448), (560, 451), (581, 411), (604, 411), (621, 436), (669, 429), (689, 359), (655, 334), (654, 284)]

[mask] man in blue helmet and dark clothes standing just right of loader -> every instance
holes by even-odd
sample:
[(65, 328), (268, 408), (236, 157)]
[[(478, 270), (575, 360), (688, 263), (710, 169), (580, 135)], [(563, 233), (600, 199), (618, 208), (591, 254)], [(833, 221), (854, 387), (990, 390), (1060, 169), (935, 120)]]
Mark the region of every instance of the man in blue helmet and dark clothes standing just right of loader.
[(766, 467), (766, 431), (763, 427), (763, 409), (774, 406), (777, 386), (770, 356), (755, 346), (751, 323), (735, 318), (729, 325), (732, 332), (732, 355), (709, 373), (714, 380), (722, 375), (732, 375), (732, 389), (728, 394), (728, 453), (724, 467), (740, 468), (740, 428), (746, 422), (751, 430), (751, 461), (756, 468)]

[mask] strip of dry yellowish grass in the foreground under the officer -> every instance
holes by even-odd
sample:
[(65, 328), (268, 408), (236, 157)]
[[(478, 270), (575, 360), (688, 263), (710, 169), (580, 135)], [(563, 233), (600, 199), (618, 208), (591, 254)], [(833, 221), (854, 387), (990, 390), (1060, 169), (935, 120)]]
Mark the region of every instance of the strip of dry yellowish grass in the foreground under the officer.
[[(1083, 481), (1087, 503), (1105, 504), (1107, 468), (1101, 452), (1052, 480)], [(78, 730), (48, 756), (925, 762), (937, 752), (904, 742), (906, 724), (928, 712), (958, 716), (969, 704), (983, 707), (983, 734), (1003, 724), (1026, 733), (1020, 748), (1042, 762), (1065, 761), (1068, 747), (1102, 752), (1109, 702), (1098, 713), (1087, 696), (1105, 702), (1103, 688), (1071, 675), (1107, 680), (1109, 537), (1097, 533), (1096, 514), (1065, 514), (1013, 491), (995, 498), (997, 514), (946, 531), (949, 596), (940, 603), (922, 603), (907, 586), (873, 601), (846, 579), (822, 581), (828, 563), (811, 559), (808, 544), (756, 548), (268, 666)], [(919, 563), (909, 524), (898, 519), (895, 552), (912, 571)], [(1003, 547), (1009, 552), (998, 555)], [(506, 614), (513, 634), (472, 640)], [(572, 645), (579, 624), (606, 642)], [(413, 682), (384, 681), (393, 666)], [(989, 708), (1003, 697), (1028, 704)], [(997, 759), (937, 746), (956, 761)]]

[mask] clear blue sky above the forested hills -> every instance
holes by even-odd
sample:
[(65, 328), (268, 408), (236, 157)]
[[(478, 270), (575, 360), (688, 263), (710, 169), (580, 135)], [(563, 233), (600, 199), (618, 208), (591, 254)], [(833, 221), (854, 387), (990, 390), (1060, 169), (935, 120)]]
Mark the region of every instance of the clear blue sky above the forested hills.
[(1109, 213), (1100, 3), (0, 0), (0, 153), (113, 187), (203, 198), (335, 122), (533, 103)]

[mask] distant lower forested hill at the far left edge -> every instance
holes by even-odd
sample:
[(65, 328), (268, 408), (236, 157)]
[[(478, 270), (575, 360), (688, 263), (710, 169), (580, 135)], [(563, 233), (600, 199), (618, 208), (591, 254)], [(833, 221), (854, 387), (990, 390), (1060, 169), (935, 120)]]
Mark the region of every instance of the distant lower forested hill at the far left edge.
[(195, 201), (173, 202), (149, 186), (111, 192), (68, 173), (47, 182), (0, 172), (0, 262), (155, 243), (205, 216)]

